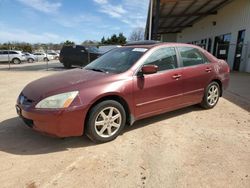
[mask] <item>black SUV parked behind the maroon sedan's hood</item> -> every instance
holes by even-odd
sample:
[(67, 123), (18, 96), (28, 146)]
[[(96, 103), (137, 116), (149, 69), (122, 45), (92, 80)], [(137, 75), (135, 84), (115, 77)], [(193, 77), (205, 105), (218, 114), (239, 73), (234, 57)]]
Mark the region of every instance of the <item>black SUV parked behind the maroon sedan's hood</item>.
[(70, 68), (72, 65), (83, 67), (100, 56), (101, 53), (96, 47), (81, 45), (63, 46), (59, 60), (66, 68)]

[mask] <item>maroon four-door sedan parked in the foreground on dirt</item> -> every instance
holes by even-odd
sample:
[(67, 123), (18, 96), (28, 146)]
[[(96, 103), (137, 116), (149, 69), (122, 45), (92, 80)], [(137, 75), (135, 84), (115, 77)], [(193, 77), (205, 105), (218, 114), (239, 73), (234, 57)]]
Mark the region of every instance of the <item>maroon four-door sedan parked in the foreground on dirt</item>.
[(85, 133), (115, 139), (125, 124), (200, 104), (211, 109), (228, 87), (229, 66), (204, 49), (178, 43), (130, 44), (83, 69), (28, 84), (17, 113), (35, 130), (58, 137)]

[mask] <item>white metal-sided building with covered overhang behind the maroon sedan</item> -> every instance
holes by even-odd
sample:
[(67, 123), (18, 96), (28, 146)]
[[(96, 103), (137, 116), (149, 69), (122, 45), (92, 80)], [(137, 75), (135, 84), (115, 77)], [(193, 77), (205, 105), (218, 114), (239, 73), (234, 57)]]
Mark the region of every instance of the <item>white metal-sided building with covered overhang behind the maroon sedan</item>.
[(146, 37), (202, 46), (250, 72), (250, 0), (152, 0)]

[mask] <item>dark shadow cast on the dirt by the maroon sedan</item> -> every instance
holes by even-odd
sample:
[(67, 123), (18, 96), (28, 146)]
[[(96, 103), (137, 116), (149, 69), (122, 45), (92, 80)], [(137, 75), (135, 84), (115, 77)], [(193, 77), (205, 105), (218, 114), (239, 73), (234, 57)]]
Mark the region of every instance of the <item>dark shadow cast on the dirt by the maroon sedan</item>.
[[(151, 118), (146, 118), (135, 122), (133, 126), (126, 127), (124, 132), (143, 128), (144, 126), (158, 121), (167, 120), (171, 117), (199, 110), (202, 109), (198, 106), (191, 106)], [(2, 152), (16, 155), (37, 155), (66, 151), (71, 148), (91, 147), (95, 145), (96, 144), (86, 136), (60, 139), (43, 135), (28, 128), (19, 117), (0, 122), (0, 151)]]

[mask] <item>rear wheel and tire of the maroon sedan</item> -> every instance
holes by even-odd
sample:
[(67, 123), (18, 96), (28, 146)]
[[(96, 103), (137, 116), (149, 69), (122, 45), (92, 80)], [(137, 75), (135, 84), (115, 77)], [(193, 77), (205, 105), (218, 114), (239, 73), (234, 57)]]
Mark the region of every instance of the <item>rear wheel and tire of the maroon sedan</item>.
[(201, 106), (205, 109), (211, 109), (216, 106), (220, 98), (220, 86), (217, 82), (211, 82), (206, 90), (201, 102)]

